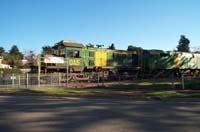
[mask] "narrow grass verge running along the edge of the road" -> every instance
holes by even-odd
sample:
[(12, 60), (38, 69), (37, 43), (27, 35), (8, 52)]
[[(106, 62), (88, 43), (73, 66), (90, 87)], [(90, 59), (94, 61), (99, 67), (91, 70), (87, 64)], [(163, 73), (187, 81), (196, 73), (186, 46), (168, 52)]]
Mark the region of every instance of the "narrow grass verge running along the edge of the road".
[(96, 96), (96, 97), (131, 97), (134, 99), (153, 99), (153, 98), (200, 98), (200, 93), (181, 93), (177, 91), (149, 91), (139, 93), (126, 93), (124, 91), (92, 91), (80, 89), (61, 89), (61, 88), (48, 88), (48, 89), (9, 89), (0, 90), (0, 93), (16, 94), (16, 95), (62, 95), (62, 96)]

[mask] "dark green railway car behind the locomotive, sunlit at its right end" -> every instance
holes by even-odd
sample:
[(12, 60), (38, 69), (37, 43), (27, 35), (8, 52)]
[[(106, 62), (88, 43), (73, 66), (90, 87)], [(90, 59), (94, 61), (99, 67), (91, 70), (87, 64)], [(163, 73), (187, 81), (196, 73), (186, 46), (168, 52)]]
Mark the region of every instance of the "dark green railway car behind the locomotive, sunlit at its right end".
[(162, 50), (145, 50), (140, 56), (142, 72), (151, 77), (200, 74), (200, 54)]

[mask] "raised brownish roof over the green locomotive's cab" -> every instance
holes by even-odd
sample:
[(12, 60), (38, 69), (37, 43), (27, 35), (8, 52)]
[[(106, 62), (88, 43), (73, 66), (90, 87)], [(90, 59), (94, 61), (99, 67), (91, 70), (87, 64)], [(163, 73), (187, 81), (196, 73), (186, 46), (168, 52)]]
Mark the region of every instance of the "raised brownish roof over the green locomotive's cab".
[(57, 48), (59, 46), (67, 46), (67, 47), (76, 47), (76, 48), (83, 48), (83, 44), (77, 43), (71, 40), (62, 40), (58, 43), (56, 43), (53, 48)]

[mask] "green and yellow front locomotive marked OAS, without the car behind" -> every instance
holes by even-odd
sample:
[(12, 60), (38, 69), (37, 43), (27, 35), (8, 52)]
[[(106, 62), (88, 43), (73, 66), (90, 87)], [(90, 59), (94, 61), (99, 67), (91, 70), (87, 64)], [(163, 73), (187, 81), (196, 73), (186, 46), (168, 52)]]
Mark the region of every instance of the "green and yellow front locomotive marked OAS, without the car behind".
[[(53, 47), (52, 55), (44, 55), (45, 59), (62, 58), (63, 63), (42, 63), (43, 72), (83, 73), (103, 71), (105, 74), (116, 74), (136, 69), (137, 59), (133, 60), (131, 52), (123, 50), (111, 50), (104, 48), (84, 47), (83, 44), (72, 41), (60, 41)], [(59, 57), (59, 58), (58, 58)], [(47, 62), (47, 61), (46, 61)]]

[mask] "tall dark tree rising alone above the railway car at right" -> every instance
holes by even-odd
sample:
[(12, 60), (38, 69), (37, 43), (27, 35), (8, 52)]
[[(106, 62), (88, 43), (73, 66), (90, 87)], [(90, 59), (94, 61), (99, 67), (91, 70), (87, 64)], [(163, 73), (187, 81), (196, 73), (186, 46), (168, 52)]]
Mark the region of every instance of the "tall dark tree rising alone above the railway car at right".
[(190, 40), (186, 38), (185, 35), (181, 35), (178, 42), (177, 50), (180, 52), (190, 52), (189, 44)]

